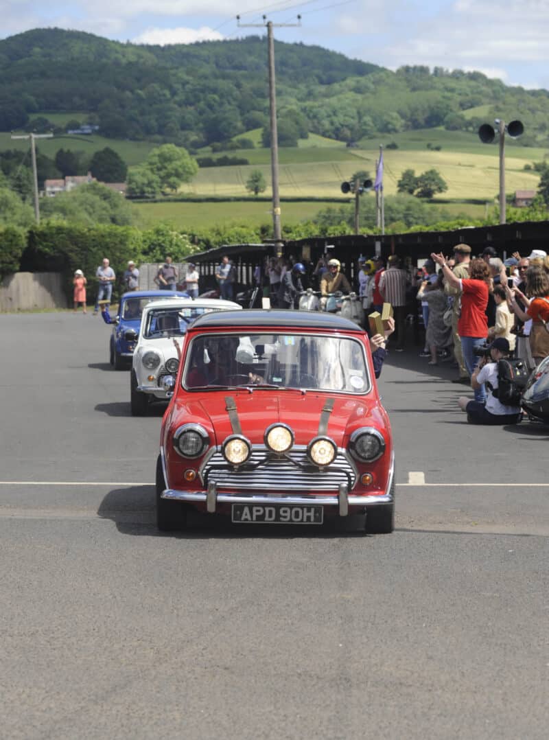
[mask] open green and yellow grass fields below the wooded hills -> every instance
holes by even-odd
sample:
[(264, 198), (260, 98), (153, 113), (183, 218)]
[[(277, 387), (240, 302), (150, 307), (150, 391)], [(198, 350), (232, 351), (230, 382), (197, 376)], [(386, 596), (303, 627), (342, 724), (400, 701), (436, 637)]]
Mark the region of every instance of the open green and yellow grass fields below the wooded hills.
[[(485, 115), (485, 106), (470, 109), (468, 115)], [(71, 118), (78, 120), (86, 116), (82, 112), (41, 113), (55, 124), (64, 124)], [(254, 149), (237, 149), (227, 152), (212, 153), (205, 147), (198, 155), (238, 156), (248, 159), (246, 166), (204, 167), (193, 178), (192, 182), (181, 187), (181, 193), (204, 197), (217, 196), (234, 198), (249, 195), (246, 180), (253, 169), (260, 169), (267, 184), (271, 181), (271, 152), (258, 147), (260, 129), (243, 133), (237, 138), (250, 138), (255, 142)], [(494, 144), (482, 144), (471, 132), (446, 131), (445, 129), (421, 129), (398, 134), (385, 135), (383, 139), (371, 138), (360, 141), (359, 148), (348, 148), (343, 142), (334, 141), (315, 134), (301, 139), (298, 147), (280, 147), (280, 196), (302, 198), (338, 198), (343, 181), (351, 178), (359, 169), (366, 170), (374, 176), (380, 144), (394, 141), (397, 149), (384, 150), (384, 192), (394, 195), (397, 192), (397, 181), (405, 169), (413, 169), (416, 175), (426, 169), (437, 169), (448, 184), (448, 190), (442, 197), (449, 201), (485, 201), (492, 205), (494, 196), (499, 191), (499, 147)], [(428, 147), (429, 145), (429, 147)], [(108, 139), (101, 136), (61, 135), (38, 142), (44, 154), (53, 157), (55, 152), (64, 149), (93, 152), (104, 147), (111, 147), (131, 166), (141, 164), (149, 151), (158, 144), (144, 141), (124, 141)], [(440, 147), (435, 151), (434, 147)], [(20, 149), (28, 151), (28, 141), (12, 140), (9, 133), (0, 133), (0, 149)], [(546, 149), (521, 147), (511, 138), (506, 141), (505, 190), (510, 193), (517, 189), (536, 190), (539, 175), (525, 171), (526, 163), (542, 161), (549, 157)], [(270, 195), (270, 185), (264, 195)], [(373, 197), (373, 196), (369, 196)], [(211, 218), (227, 223), (229, 221), (249, 221), (263, 223), (269, 221), (269, 204), (265, 203), (155, 203), (136, 206), (146, 223), (166, 219), (184, 226), (205, 225)], [(283, 205), (286, 222), (310, 218), (323, 203), (287, 203)], [(448, 203), (445, 209), (451, 212), (467, 212), (471, 216), (482, 216), (484, 206), (473, 206), (465, 203)], [(154, 214), (154, 215), (152, 215)]]

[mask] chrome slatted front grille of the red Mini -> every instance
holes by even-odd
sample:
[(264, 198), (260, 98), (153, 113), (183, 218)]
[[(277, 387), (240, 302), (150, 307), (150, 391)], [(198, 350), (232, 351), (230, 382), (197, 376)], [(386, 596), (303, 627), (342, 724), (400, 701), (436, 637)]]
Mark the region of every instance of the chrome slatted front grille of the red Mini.
[[(256, 467), (257, 465), (257, 467)], [(252, 457), (235, 470), (216, 450), (201, 469), (204, 485), (215, 482), (218, 491), (238, 489), (255, 491), (337, 491), (340, 483), (354, 486), (357, 473), (343, 451), (323, 471), (311, 465), (306, 447), (293, 448), (285, 457), (277, 457), (266, 448), (253, 448)]]

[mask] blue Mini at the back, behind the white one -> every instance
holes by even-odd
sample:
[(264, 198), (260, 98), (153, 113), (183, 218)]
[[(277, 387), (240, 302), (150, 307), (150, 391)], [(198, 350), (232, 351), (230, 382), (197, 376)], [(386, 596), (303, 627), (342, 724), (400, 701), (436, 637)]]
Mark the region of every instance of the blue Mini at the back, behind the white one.
[[(115, 370), (129, 370), (132, 366), (133, 350), (138, 340), (144, 306), (151, 300), (175, 296), (188, 298), (189, 294), (172, 290), (134, 290), (122, 295), (116, 316), (111, 316), (108, 309), (103, 309), (101, 316), (104, 322), (113, 325), (109, 341), (109, 361)], [(126, 332), (130, 329), (135, 332), (135, 340), (127, 338)]]

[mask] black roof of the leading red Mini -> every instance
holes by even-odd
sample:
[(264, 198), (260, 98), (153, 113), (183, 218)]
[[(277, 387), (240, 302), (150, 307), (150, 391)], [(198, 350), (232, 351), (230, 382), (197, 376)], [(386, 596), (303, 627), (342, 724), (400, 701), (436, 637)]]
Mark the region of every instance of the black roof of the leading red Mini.
[(241, 326), (257, 326), (272, 329), (283, 326), (287, 329), (329, 329), (334, 332), (363, 332), (354, 321), (317, 311), (289, 311), (243, 309), (243, 311), (214, 311), (198, 316), (192, 322), (192, 329), (238, 329)]

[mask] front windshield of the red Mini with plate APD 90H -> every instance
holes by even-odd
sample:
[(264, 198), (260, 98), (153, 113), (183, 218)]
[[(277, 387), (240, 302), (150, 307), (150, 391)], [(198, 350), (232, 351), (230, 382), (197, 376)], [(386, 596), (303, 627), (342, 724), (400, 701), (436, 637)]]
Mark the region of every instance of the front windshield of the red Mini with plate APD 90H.
[(184, 388), (277, 386), (364, 394), (363, 343), (324, 334), (208, 334), (186, 352)]

